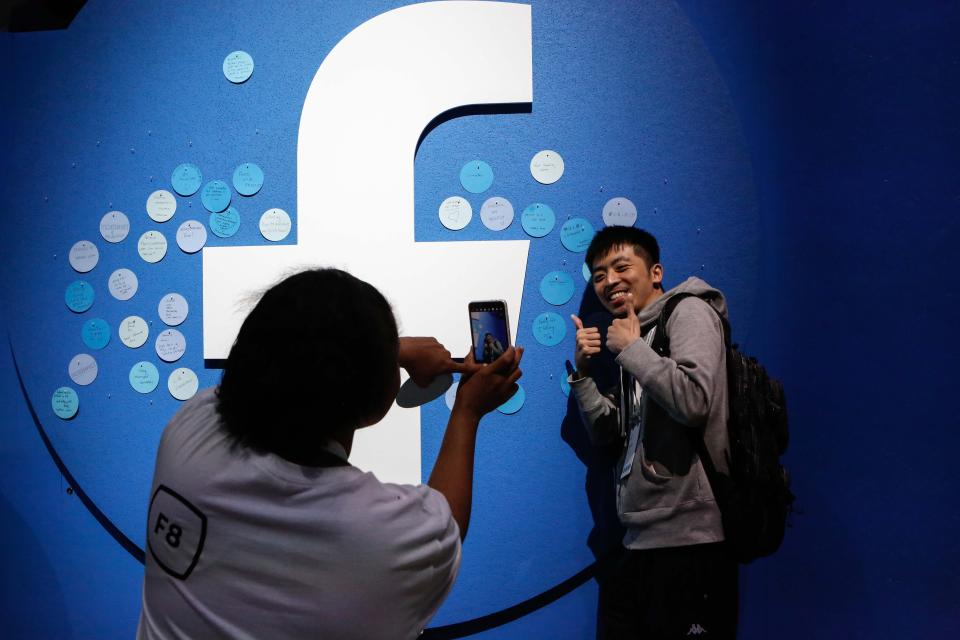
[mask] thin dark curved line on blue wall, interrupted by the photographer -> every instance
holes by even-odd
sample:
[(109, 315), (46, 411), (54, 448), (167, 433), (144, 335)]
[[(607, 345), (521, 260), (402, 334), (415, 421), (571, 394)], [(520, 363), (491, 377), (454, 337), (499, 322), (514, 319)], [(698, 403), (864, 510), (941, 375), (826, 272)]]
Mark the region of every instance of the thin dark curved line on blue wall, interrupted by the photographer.
[[(27, 409), (30, 411), (30, 417), (33, 418), (33, 424), (37, 428), (37, 433), (40, 434), (40, 439), (43, 440), (43, 445), (47, 448), (47, 453), (50, 454), (50, 458), (53, 460), (53, 463), (57, 465), (57, 469), (60, 470), (60, 473), (67, 480), (67, 484), (70, 485), (70, 488), (73, 489), (73, 492), (80, 502), (83, 503), (83, 506), (87, 508), (87, 511), (90, 512), (97, 522), (100, 523), (100, 526), (113, 537), (121, 547), (126, 549), (133, 558), (143, 564), (146, 560), (143, 549), (141, 549), (133, 540), (128, 538), (120, 529), (111, 522), (110, 518), (100, 510), (100, 508), (94, 503), (94, 501), (87, 495), (86, 491), (80, 486), (80, 483), (77, 482), (77, 479), (73, 477), (73, 474), (70, 473), (70, 470), (67, 468), (66, 463), (57, 453), (57, 450), (54, 448), (53, 443), (50, 441), (50, 438), (47, 436), (46, 430), (43, 428), (43, 424), (40, 422), (40, 416), (37, 415), (36, 409), (33, 407), (33, 402), (30, 401), (30, 396), (27, 394), (27, 387), (23, 382), (23, 376), (20, 373), (20, 365), (17, 362), (17, 354), (13, 349), (13, 340), (10, 338), (9, 334), (7, 335), (7, 344), (10, 347), (10, 358), (13, 360), (13, 370), (17, 374), (17, 384), (20, 385), (20, 393), (23, 394), (23, 401), (27, 405)], [(584, 584), (590, 580), (597, 572), (597, 563), (594, 562), (587, 566), (584, 569), (581, 569), (573, 576), (567, 578), (563, 582), (550, 587), (546, 591), (539, 593), (532, 598), (528, 598), (523, 602), (507, 607), (506, 609), (501, 609), (494, 613), (487, 614), (485, 616), (480, 616), (479, 618), (473, 618), (472, 620), (466, 620), (464, 622), (455, 622), (453, 624), (444, 625), (442, 627), (432, 627), (424, 630), (423, 637), (428, 638), (429, 640), (448, 640), (452, 638), (464, 638), (466, 636), (472, 636), (483, 631), (488, 631), (495, 627), (500, 627), (508, 622), (513, 622), (518, 620), (523, 616), (533, 613), (537, 609), (542, 609), (548, 604), (559, 600), (563, 596), (567, 595), (580, 585)]]

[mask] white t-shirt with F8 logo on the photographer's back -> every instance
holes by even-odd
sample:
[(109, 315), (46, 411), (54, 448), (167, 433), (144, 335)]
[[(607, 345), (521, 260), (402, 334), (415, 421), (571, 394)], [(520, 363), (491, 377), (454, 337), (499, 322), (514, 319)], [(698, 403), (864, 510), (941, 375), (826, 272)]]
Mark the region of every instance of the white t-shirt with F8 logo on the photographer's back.
[(416, 637), (460, 566), (444, 497), (238, 447), (215, 405), (163, 432), (137, 637)]

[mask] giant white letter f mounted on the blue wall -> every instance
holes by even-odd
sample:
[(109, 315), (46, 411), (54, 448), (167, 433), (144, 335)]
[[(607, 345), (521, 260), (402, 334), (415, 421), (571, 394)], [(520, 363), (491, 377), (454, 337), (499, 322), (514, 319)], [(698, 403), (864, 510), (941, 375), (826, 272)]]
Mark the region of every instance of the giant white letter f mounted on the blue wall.
[[(437, 115), (532, 101), (531, 42), (530, 7), (499, 2), (411, 5), (341, 40), (300, 119), (299, 244), (204, 249), (204, 357), (227, 357), (246, 313), (241, 298), (305, 266), (367, 280), (404, 335), (435, 335), (454, 350), (467, 347), (470, 300), (506, 299), (516, 327), (528, 241), (416, 244), (413, 161)], [(352, 460), (381, 480), (420, 482), (420, 410), (394, 406), (383, 424), (359, 431)]]

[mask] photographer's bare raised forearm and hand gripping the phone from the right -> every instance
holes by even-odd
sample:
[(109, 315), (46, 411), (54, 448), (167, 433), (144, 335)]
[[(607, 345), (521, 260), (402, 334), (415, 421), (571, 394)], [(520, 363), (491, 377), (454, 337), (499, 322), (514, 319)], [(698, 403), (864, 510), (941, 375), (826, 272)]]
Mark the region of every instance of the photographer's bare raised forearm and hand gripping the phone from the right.
[[(473, 457), (480, 419), (517, 392), (523, 348), (510, 347), (492, 364), (464, 374), (457, 388), (457, 399), (443, 434), (440, 453), (427, 482), (447, 499), (460, 528), (460, 539), (467, 537), (473, 506)], [(465, 364), (475, 365), (473, 351)]]

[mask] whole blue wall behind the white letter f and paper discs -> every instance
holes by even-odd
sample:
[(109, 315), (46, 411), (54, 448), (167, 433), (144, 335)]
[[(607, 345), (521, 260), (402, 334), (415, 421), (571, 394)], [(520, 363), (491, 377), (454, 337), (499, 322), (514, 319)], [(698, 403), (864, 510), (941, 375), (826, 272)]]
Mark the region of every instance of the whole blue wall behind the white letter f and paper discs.
[[(235, 196), (240, 232), (211, 235), (209, 244), (265, 242), (260, 213), (300, 213), (296, 133), (317, 67), (353, 28), (402, 4), (266, 10), (250, 0), (91, 0), (66, 31), (0, 34), (4, 637), (133, 634), (152, 460), (179, 404), (165, 390), (166, 374), (188, 366), (203, 385), (217, 380), (201, 356), (199, 255), (173, 243), (176, 225), (205, 222), (206, 214), (198, 197), (178, 198), (175, 218), (153, 223), (147, 196), (169, 190), (181, 162), (200, 166), (205, 180), (229, 179), (238, 164), (255, 162), (266, 182), (252, 198)], [(960, 420), (949, 398), (960, 354), (948, 329), (958, 315), (949, 272), (960, 224), (960, 8), (531, 4), (533, 103), (446, 118), (429, 132), (415, 159), (417, 240), (526, 238), (519, 214), (533, 202), (549, 204), (558, 227), (585, 217), (599, 228), (608, 199), (632, 200), (636, 224), (661, 239), (668, 283), (696, 274), (724, 289), (736, 338), (789, 394), (786, 461), (800, 513), (778, 554), (742, 574), (740, 636), (957, 635), (952, 463)], [(242, 85), (221, 72), (236, 49), (256, 63)], [(530, 177), (541, 149), (565, 159), (555, 185)], [(376, 166), (375, 149), (371, 159), (375, 180), (389, 167)], [(473, 159), (493, 167), (487, 194), (459, 185), (460, 167)], [(437, 218), (451, 195), (466, 197), (475, 212), (460, 232)], [(517, 212), (502, 232), (476, 216), (492, 195)], [(120, 245), (98, 233), (113, 209), (131, 219)], [(150, 229), (171, 240), (157, 265), (136, 253), (136, 238)], [(81, 276), (66, 256), (81, 239), (98, 244), (101, 262), (87, 277), (97, 288), (94, 307), (73, 314), (63, 292)], [(295, 241), (294, 233), (288, 242)], [(483, 638), (592, 635), (595, 584), (559, 598), (551, 589), (616, 540), (609, 461), (589, 449), (560, 390), (572, 336), (544, 347), (531, 331), (543, 311), (596, 312), (581, 260), (560, 245), (558, 229), (531, 239), (518, 327), (518, 341), (529, 345), (527, 401), (485, 423), (464, 564), (434, 627), (493, 614), (488, 624), (457, 629)], [(140, 278), (126, 303), (106, 291), (119, 267)], [(539, 295), (553, 270), (577, 283), (563, 308)], [(94, 352), (97, 381), (78, 388), (80, 413), (57, 418), (50, 397), (71, 384), (69, 359), (87, 351), (83, 322), (102, 317), (115, 330), (131, 313), (156, 319), (160, 296), (173, 290), (191, 303), (180, 327), (183, 360), (164, 364), (152, 357), (152, 339), (131, 351), (114, 334)], [(152, 394), (127, 383), (139, 360), (161, 370)], [(422, 412), (425, 472), (446, 411), (438, 400)], [(541, 594), (542, 608), (509, 614)]]

